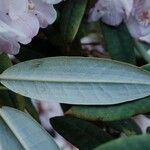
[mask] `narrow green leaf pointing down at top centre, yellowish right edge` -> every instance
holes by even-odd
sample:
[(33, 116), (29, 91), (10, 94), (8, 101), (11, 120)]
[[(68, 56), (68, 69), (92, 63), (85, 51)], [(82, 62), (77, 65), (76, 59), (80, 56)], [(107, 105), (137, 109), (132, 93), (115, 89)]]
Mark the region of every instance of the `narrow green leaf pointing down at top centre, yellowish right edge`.
[(61, 33), (64, 42), (70, 43), (74, 40), (80, 23), (82, 21), (87, 0), (67, 0), (64, 2), (61, 17)]

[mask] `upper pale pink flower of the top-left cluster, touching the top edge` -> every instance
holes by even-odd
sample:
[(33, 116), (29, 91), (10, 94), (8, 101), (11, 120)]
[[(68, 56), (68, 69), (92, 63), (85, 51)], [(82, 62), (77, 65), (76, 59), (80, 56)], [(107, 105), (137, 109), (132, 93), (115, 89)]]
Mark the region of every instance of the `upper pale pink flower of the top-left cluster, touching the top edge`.
[[(4, 1), (4, 0), (0, 0)], [(52, 24), (57, 17), (57, 13), (53, 4), (59, 3), (61, 0), (6, 0), (9, 16), (14, 20), (24, 13), (35, 15), (40, 22), (41, 27)]]

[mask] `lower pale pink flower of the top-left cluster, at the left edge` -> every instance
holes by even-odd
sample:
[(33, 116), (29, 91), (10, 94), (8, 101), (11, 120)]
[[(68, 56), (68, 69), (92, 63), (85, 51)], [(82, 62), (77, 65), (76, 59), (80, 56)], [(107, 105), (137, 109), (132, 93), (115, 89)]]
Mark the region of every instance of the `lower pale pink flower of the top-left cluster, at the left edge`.
[(38, 33), (38, 30), (39, 22), (31, 14), (24, 14), (22, 18), (20, 17), (14, 21), (7, 14), (1, 12), (0, 51), (17, 54), (20, 48), (18, 42), (22, 44), (31, 42), (32, 38)]

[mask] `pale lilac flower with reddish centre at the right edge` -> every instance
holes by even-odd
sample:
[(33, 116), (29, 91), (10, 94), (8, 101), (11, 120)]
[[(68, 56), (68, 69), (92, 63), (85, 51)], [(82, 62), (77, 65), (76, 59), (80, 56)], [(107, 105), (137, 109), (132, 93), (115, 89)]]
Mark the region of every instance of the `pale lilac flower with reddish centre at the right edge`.
[(150, 37), (150, 1), (134, 0), (132, 13), (126, 23), (133, 37), (150, 42), (147, 39)]

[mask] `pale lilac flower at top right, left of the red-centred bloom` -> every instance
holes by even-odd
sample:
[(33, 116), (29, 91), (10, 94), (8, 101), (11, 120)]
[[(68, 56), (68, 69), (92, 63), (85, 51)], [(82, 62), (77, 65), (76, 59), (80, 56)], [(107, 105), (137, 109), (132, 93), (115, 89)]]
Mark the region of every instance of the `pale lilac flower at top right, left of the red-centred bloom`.
[(133, 0), (98, 0), (90, 10), (89, 21), (101, 19), (106, 24), (117, 26), (129, 17), (132, 5)]

